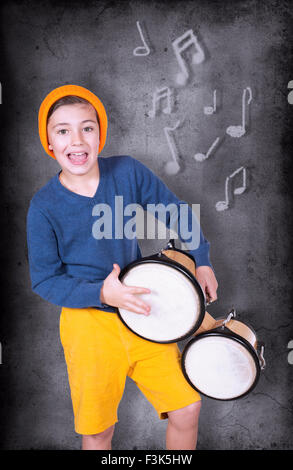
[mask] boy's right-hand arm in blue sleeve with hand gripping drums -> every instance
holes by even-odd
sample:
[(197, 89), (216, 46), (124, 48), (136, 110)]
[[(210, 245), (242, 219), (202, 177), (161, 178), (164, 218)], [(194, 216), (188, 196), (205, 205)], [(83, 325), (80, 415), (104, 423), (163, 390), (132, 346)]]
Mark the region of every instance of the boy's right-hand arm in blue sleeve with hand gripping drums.
[[(178, 227), (180, 227), (180, 205), (185, 204), (185, 201), (180, 201), (172, 191), (161, 181), (151, 170), (134, 160), (134, 173), (136, 178), (137, 201), (146, 210), (147, 204), (175, 204), (178, 208)], [(191, 208), (188, 206), (188, 232), (195, 235), (196, 247), (193, 242), (189, 242), (182, 237), (179, 230), (180, 239), (186, 244), (191, 246), (189, 253), (193, 256), (196, 262), (196, 278), (200, 283), (203, 291), (207, 296), (208, 301), (217, 299), (218, 283), (213, 271), (210, 261), (210, 244), (204, 237), (196, 216), (193, 214)], [(168, 212), (167, 212), (168, 215)], [(171, 217), (166, 217), (166, 226), (170, 228)], [(172, 228), (172, 227), (171, 227)], [(195, 233), (194, 233), (195, 232)], [(187, 242), (187, 243), (186, 243)]]

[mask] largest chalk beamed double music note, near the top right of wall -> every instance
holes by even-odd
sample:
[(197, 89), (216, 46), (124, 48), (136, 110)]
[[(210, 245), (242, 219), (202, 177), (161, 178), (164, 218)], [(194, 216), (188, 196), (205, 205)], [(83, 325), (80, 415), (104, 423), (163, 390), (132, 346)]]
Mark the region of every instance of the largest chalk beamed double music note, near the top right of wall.
[(192, 29), (189, 29), (184, 34), (182, 34), (182, 36), (179, 36), (179, 38), (175, 39), (175, 41), (172, 42), (172, 46), (181, 69), (181, 72), (179, 72), (176, 76), (176, 82), (179, 85), (185, 85), (189, 77), (189, 71), (186, 66), (186, 62), (182, 57), (182, 53), (190, 46), (194, 46), (196, 48), (196, 52), (192, 54), (192, 63), (200, 64), (205, 58), (204, 52), (200, 47)]

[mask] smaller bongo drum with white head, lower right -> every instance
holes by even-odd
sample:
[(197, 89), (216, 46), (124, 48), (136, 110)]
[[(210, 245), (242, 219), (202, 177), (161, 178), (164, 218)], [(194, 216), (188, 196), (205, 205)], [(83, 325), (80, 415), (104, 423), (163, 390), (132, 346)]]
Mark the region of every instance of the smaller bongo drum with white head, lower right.
[(251, 327), (234, 318), (234, 309), (226, 319), (210, 317), (208, 328), (213, 328), (199, 329), (181, 356), (182, 371), (189, 384), (216, 400), (247, 395), (265, 368), (264, 344), (257, 343)]

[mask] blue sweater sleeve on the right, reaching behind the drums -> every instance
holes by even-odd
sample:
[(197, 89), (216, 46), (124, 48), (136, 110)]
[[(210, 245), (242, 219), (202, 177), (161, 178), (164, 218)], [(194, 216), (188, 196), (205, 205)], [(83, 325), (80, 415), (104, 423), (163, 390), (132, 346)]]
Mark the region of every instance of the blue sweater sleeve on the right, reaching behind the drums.
[[(198, 219), (190, 206), (185, 201), (179, 200), (165, 183), (145, 165), (138, 160), (133, 159), (133, 161), (139, 203), (145, 210), (149, 210), (148, 205), (151, 207), (152, 205), (162, 204), (167, 208), (168, 205), (170, 205), (169, 208), (176, 206), (177, 210), (173, 211), (173, 215), (175, 212), (179, 238), (185, 243), (189, 253), (195, 259), (197, 267), (210, 266), (213, 269), (209, 255), (210, 243), (204, 237)], [(182, 207), (183, 205), (185, 206), (184, 208)], [(164, 222), (166, 222), (168, 228), (173, 228), (174, 225), (174, 218), (172, 222), (171, 212), (163, 210)], [(184, 214), (184, 221), (182, 214)], [(160, 218), (159, 212), (155, 212), (154, 215)], [(185, 226), (185, 230), (183, 230), (183, 226)], [(185, 235), (188, 235), (189, 238)]]

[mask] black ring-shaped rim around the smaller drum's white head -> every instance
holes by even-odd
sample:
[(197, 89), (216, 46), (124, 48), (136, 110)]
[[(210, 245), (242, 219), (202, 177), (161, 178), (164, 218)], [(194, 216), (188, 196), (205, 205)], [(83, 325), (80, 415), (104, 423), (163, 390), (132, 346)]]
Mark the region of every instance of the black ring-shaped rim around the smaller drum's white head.
[[(246, 349), (248, 349), (251, 353), (252, 353), (252, 357), (254, 359), (254, 362), (255, 362), (255, 366), (256, 366), (256, 376), (255, 376), (255, 379), (252, 383), (252, 385), (250, 386), (250, 388), (248, 390), (246, 390), (246, 392), (242, 393), (241, 395), (238, 395), (237, 397), (234, 397), (234, 398), (216, 398), (216, 397), (213, 397), (211, 395), (208, 395), (206, 393), (203, 393), (199, 388), (197, 388), (192, 382), (191, 380), (189, 379), (188, 375), (187, 375), (187, 372), (186, 372), (186, 368), (185, 368), (185, 359), (186, 359), (186, 355), (187, 355), (187, 352), (188, 350), (190, 349), (190, 347), (192, 346), (193, 343), (195, 343), (196, 341), (200, 340), (201, 338), (204, 338), (204, 337), (211, 337), (211, 336), (220, 336), (220, 337), (226, 337), (226, 338), (229, 338), (229, 339), (232, 339), (238, 343), (240, 343), (242, 346), (245, 346)], [(209, 330), (209, 331), (205, 331), (204, 333), (200, 333), (199, 335), (195, 336), (194, 338), (192, 338), (184, 347), (183, 349), (183, 352), (181, 354), (181, 369), (182, 369), (182, 372), (183, 372), (183, 375), (185, 377), (185, 379), (187, 380), (187, 382), (191, 385), (191, 387), (196, 390), (197, 392), (199, 392), (201, 395), (205, 396), (205, 397), (208, 397), (208, 398), (211, 398), (213, 400), (218, 400), (218, 401), (233, 401), (233, 400), (239, 400), (240, 398), (243, 398), (245, 397), (246, 395), (248, 395), (255, 387), (256, 387), (256, 384), (258, 383), (259, 381), (259, 377), (260, 377), (260, 364), (259, 364), (259, 358), (258, 358), (258, 355), (257, 355), (257, 352), (256, 350), (251, 346), (251, 344), (245, 339), (243, 338), (242, 336), (240, 335), (237, 335), (236, 333), (232, 332), (232, 331), (227, 331), (227, 328), (225, 328), (225, 331), (222, 330), (222, 327), (219, 327), (219, 328), (215, 328), (213, 330)]]

